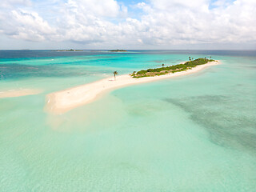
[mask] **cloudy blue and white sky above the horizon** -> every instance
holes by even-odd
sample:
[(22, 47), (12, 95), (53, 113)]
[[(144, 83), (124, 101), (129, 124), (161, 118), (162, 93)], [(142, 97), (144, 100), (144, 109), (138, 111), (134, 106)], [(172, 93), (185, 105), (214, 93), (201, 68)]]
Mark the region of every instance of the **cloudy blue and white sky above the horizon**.
[(256, 50), (256, 0), (1, 0), (0, 49)]

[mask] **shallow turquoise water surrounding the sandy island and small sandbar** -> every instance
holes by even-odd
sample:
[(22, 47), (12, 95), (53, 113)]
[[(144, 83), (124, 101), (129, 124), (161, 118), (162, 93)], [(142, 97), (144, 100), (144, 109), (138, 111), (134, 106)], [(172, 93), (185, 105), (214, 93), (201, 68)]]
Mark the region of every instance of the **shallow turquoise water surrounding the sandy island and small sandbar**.
[(254, 191), (256, 57), (128, 86), (62, 115), (46, 94), (204, 53), (136, 52), (2, 58), (0, 191)]

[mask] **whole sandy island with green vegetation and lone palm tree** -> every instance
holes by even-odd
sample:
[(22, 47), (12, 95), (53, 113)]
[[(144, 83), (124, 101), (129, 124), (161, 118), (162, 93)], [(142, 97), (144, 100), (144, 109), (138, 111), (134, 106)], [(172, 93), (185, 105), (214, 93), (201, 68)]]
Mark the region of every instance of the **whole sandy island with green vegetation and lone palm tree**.
[[(97, 82), (91, 82), (82, 86), (75, 86), (70, 89), (60, 90), (46, 95), (45, 110), (51, 114), (62, 114), (75, 107), (93, 102), (102, 94), (124, 86), (138, 83), (154, 82), (165, 78), (175, 78), (186, 74), (193, 74), (209, 66), (220, 64), (219, 61), (208, 58), (191, 59), (174, 66), (164, 66), (140, 70), (133, 74), (118, 75), (118, 71), (113, 71), (114, 77), (103, 78)], [(117, 76), (118, 75), (118, 76)]]

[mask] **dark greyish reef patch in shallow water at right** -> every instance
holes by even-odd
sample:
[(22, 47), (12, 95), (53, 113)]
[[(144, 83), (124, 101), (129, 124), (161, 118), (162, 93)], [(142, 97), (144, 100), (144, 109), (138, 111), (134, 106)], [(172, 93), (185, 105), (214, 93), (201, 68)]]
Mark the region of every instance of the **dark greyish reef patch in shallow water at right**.
[(218, 146), (256, 154), (256, 105), (250, 98), (202, 95), (164, 100), (190, 113), (190, 119), (204, 127)]

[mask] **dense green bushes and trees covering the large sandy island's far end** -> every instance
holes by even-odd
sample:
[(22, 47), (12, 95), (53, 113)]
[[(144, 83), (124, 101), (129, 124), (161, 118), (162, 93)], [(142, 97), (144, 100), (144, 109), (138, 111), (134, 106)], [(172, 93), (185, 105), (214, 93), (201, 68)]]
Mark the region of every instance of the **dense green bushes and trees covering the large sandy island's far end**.
[(148, 70), (140, 70), (136, 73), (134, 71), (133, 74), (130, 74), (133, 78), (144, 78), (144, 77), (152, 77), (156, 75), (162, 75), (162, 74), (169, 74), (169, 73), (176, 73), (183, 70), (190, 70), (195, 66), (206, 64), (207, 62), (215, 62), (214, 59), (208, 59), (208, 58), (198, 58), (195, 60), (191, 60), (190, 62), (185, 62), (184, 64), (178, 64), (175, 66), (166, 66), (164, 67), (164, 64), (162, 64), (161, 68), (155, 68), (155, 69), (148, 69)]

